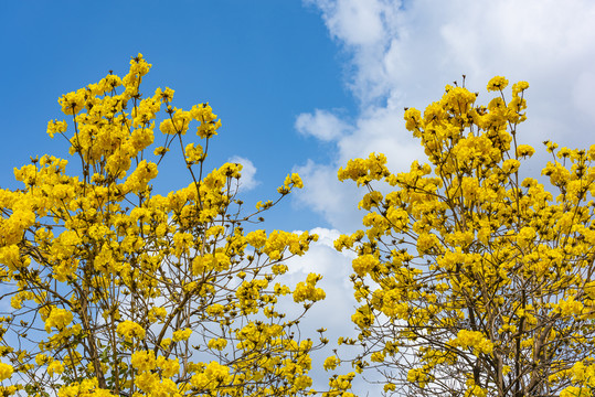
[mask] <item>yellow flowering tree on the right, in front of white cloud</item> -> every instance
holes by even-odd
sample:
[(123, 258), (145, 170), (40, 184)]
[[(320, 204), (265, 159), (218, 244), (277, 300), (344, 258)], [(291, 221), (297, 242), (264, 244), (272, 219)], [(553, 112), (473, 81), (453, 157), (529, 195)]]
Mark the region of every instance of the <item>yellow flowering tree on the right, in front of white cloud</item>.
[[(542, 175), (519, 144), (525, 82), (495, 77), (486, 106), (446, 86), (406, 128), (427, 163), (392, 173), (383, 154), (339, 171), (368, 190), (350, 249), (355, 369), (378, 368), (387, 395), (591, 396), (595, 386), (595, 146), (557, 149)], [(329, 357), (334, 366), (337, 357)]]

